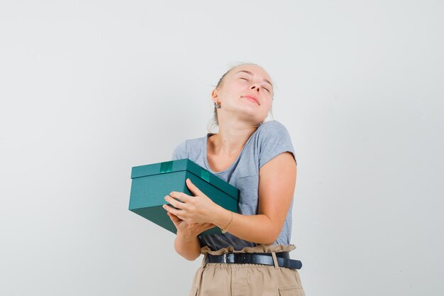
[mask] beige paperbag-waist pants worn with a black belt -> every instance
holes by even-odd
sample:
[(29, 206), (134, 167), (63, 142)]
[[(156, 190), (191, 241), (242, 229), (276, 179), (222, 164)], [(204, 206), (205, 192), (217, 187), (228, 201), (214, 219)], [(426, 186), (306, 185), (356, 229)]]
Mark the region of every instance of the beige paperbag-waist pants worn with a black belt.
[[(189, 296), (305, 296), (297, 269), (281, 268), (274, 252), (289, 252), (294, 245), (259, 245), (235, 251), (201, 248), (202, 265), (196, 270)], [(272, 253), (274, 266), (262, 264), (205, 263), (206, 254)]]

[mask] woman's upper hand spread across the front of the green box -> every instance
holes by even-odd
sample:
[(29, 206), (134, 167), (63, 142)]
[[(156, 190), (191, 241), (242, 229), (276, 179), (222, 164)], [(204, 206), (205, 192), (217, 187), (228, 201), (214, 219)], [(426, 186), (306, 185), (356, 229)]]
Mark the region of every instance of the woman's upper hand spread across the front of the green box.
[[(201, 192), (191, 180), (187, 179), (186, 183), (194, 197), (184, 192), (173, 191), (165, 197), (165, 200), (177, 209), (167, 204), (164, 204), (164, 209), (189, 223), (213, 223), (220, 206)], [(176, 198), (182, 202), (179, 202)]]

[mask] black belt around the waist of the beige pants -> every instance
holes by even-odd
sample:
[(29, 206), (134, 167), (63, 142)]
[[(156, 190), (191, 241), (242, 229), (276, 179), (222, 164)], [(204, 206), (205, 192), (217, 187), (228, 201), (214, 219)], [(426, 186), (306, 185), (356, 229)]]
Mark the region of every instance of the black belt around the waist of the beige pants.
[[(290, 259), (289, 252), (276, 253), (277, 265), (284, 268), (301, 269), (299, 260)], [(206, 254), (206, 263), (252, 263), (274, 265), (272, 253), (226, 253), (222, 255)]]

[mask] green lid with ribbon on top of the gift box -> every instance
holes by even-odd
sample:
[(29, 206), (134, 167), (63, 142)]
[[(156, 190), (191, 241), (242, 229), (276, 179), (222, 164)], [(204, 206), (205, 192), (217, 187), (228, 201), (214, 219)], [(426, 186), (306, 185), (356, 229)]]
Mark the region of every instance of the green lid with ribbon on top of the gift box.
[(239, 199), (238, 188), (229, 184), (225, 180), (222, 180), (220, 177), (214, 175), (208, 170), (205, 170), (200, 165), (194, 163), (188, 158), (165, 161), (162, 163), (152, 163), (150, 165), (135, 166), (131, 170), (131, 179), (137, 177), (145, 177), (149, 175), (165, 174), (168, 172), (179, 172), (182, 170), (188, 170), (189, 172), (192, 172), (192, 174), (218, 187), (220, 190), (230, 195), (231, 197)]

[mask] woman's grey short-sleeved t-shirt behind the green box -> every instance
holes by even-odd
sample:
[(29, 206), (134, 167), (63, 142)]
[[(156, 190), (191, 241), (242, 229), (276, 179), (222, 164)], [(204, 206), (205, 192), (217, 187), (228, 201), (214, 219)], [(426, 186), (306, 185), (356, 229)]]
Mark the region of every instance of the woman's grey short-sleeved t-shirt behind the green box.
[[(222, 172), (213, 172), (206, 158), (207, 140), (211, 135), (212, 133), (207, 133), (206, 136), (202, 138), (189, 139), (179, 143), (172, 153), (172, 160), (189, 158), (189, 160), (194, 161), (194, 163), (197, 163), (202, 168), (205, 168), (222, 180), (238, 188), (239, 214), (257, 214), (259, 169), (269, 160), (286, 151), (293, 153), (294, 161), (296, 162), (292, 140), (290, 139), (287, 128), (279, 121), (265, 121), (252, 133), (250, 138), (248, 138), (248, 141), (245, 143), (245, 146), (243, 146), (235, 162)], [(292, 234), (292, 207), (293, 200), (282, 231), (274, 244), (281, 243), (287, 246), (290, 243)], [(198, 237), (201, 247), (209, 246), (212, 251), (226, 248), (227, 246), (233, 246), (235, 250), (240, 250), (247, 246), (257, 246), (257, 243), (244, 241), (230, 233), (213, 234), (209, 236), (199, 235)]]

